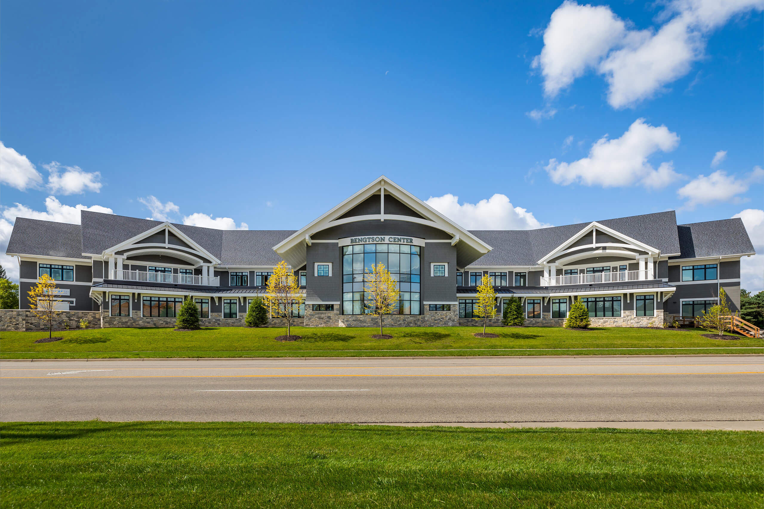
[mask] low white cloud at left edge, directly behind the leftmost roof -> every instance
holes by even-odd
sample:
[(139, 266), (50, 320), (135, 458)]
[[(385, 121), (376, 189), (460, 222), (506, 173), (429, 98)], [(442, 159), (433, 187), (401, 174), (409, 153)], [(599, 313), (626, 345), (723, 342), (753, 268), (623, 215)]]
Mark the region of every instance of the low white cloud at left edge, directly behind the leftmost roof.
[(45, 199), (45, 212), (40, 212), (31, 207), (15, 203), (12, 207), (5, 207), (2, 210), (2, 219), (0, 219), (0, 264), (8, 271), (11, 280), (18, 281), (18, 261), (11, 258), (5, 251), (8, 249), (8, 240), (11, 238), (11, 230), (17, 217), (28, 217), (30, 219), (42, 219), (43, 221), (70, 222), (79, 225), (79, 211), (92, 210), (93, 212), (104, 212), (113, 214), (112, 209), (100, 205), (85, 206), (63, 205), (55, 196), (48, 196)]

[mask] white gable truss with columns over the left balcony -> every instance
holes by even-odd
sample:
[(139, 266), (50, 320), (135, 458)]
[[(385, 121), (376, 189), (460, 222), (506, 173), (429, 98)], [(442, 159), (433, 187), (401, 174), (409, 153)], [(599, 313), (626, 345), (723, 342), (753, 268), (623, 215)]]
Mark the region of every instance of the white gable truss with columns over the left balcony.
[[(189, 268), (201, 268), (202, 278), (214, 276), (215, 265), (220, 264), (219, 258), (202, 248), (193, 238), (181, 232), (170, 222), (163, 222), (152, 229), (141, 232), (133, 238), (128, 238), (118, 245), (105, 249), (101, 254), (102, 260), (108, 260), (108, 273), (104, 274), (109, 279), (126, 279), (124, 274), (125, 261), (130, 258), (159, 255), (176, 259), (180, 263), (187, 264)], [(145, 261), (134, 263), (146, 264)], [(114, 271), (119, 271), (115, 273)], [(212, 281), (195, 282), (194, 284), (212, 284)]]

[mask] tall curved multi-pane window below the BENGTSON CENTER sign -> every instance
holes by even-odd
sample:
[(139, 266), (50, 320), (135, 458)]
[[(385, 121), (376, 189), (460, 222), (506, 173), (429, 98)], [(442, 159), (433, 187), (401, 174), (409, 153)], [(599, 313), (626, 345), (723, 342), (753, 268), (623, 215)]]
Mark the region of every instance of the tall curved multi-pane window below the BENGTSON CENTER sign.
[[(400, 300), (393, 314), (419, 315), (421, 249), (405, 244), (356, 244), (342, 248), (342, 314), (368, 313), (364, 273), (374, 264), (384, 264), (398, 282)], [(331, 269), (331, 267), (330, 267)]]

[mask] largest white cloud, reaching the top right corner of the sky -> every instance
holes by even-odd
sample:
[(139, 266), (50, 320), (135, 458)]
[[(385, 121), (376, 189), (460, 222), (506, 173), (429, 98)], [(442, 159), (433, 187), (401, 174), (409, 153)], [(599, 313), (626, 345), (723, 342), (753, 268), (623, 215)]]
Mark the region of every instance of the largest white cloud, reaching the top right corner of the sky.
[(552, 13), (532, 65), (541, 71), (549, 98), (595, 70), (607, 80), (607, 102), (615, 109), (631, 107), (685, 76), (704, 57), (712, 31), (762, 8), (764, 0), (674, 0), (665, 3), (659, 28), (637, 30), (607, 5), (566, 1)]

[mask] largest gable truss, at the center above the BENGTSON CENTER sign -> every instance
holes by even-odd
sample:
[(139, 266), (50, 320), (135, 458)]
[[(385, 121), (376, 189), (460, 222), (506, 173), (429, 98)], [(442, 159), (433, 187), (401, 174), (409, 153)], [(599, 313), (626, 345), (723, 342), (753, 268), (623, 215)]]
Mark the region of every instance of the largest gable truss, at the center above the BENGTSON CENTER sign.
[[(355, 211), (362, 209), (364, 202), (375, 195), (379, 195), (379, 206), (377, 207), (375, 203), (373, 208), (365, 211), (371, 213), (358, 212), (358, 214), (355, 214), (354, 212), (351, 212), (354, 211), (354, 209)], [(410, 209), (414, 214), (403, 215), (397, 213), (400, 212), (400, 210), (397, 212), (390, 212), (390, 209), (388, 209), (386, 211), (386, 196), (392, 196), (395, 199), (396, 205), (403, 204), (403, 206)], [(351, 213), (348, 214), (348, 212)], [(464, 260), (462, 262), (464, 266), (471, 261), (477, 260), (491, 250), (490, 245), (487, 245), (466, 229), (461, 228), (461, 226), (452, 222), (440, 212), (422, 202), (421, 199), (413, 196), (413, 194), (404, 190), (383, 175), (359, 190), (357, 193), (354, 193), (354, 195), (350, 196), (348, 199), (345, 199), (345, 201), (329, 210), (329, 212), (326, 212), (318, 219), (310, 222), (309, 225), (306, 225), (303, 229), (300, 229), (289, 238), (286, 238), (283, 242), (275, 245), (274, 251), (276, 251), (281, 258), (286, 260), (290, 266), (301, 267), (306, 262), (306, 246), (312, 245), (313, 241), (311, 236), (315, 235), (317, 232), (351, 222), (384, 222), (385, 220), (414, 222), (446, 232), (448, 235), (451, 235), (451, 244), (456, 246), (457, 257), (460, 258), (461, 256)], [(371, 235), (374, 232), (362, 233)]]

